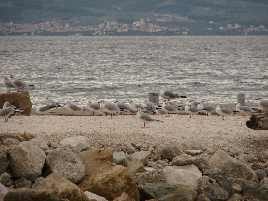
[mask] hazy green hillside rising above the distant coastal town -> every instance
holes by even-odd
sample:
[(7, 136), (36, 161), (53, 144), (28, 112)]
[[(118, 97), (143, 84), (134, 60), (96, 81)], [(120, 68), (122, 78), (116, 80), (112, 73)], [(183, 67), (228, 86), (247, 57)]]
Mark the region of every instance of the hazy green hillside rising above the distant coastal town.
[(149, 18), (161, 27), (184, 27), (194, 35), (209, 35), (208, 29), (215, 30), (211, 35), (217, 35), (219, 27), (235, 23), (267, 28), (267, 10), (267, 0), (0, 0), (2, 22), (57, 21), (70, 26), (98, 26), (112, 21), (132, 24)]

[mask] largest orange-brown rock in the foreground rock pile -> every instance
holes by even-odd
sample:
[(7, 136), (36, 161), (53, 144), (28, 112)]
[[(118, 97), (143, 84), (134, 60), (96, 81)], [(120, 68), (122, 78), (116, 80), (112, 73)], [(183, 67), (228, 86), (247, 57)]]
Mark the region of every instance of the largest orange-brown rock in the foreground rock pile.
[(85, 176), (77, 184), (82, 191), (90, 191), (107, 200), (114, 200), (127, 193), (139, 200), (137, 185), (128, 170), (114, 164), (113, 152), (109, 149), (92, 149), (77, 154), (85, 166)]

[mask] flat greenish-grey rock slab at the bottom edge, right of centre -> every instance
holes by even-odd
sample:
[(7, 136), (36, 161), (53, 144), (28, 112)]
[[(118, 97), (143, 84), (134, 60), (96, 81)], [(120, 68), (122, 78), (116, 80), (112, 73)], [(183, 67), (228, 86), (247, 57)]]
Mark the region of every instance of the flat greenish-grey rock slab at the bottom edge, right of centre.
[[(197, 194), (186, 186), (170, 183), (145, 183), (138, 186), (140, 200), (159, 201), (196, 200)], [(179, 199), (178, 199), (179, 198)]]

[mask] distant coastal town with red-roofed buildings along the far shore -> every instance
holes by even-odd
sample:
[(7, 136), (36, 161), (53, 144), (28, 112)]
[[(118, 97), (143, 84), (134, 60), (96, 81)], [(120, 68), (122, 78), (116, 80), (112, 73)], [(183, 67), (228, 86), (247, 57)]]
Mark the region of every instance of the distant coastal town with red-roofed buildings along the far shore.
[[(75, 21), (79, 24), (79, 21)], [(214, 25), (214, 21), (209, 21), (209, 24)], [(206, 30), (212, 31), (215, 28), (207, 28)], [(247, 35), (250, 32), (265, 32), (268, 34), (267, 29), (260, 25), (255, 26), (242, 26), (238, 23), (227, 24), (226, 27), (220, 26), (217, 28), (221, 32), (227, 32), (233, 30), (235, 32), (240, 32), (240, 35)], [(116, 21), (105, 21), (98, 26), (70, 26), (69, 23), (62, 23), (59, 21), (45, 21), (42, 23), (32, 23), (32, 24), (17, 24), (13, 22), (2, 22), (0, 20), (0, 35), (89, 35), (89, 36), (101, 36), (101, 35), (115, 35), (130, 31), (144, 32), (144, 33), (170, 33), (172, 35), (189, 35), (189, 28), (170, 28), (161, 27), (157, 23), (153, 23), (150, 18), (141, 18), (139, 21), (134, 21), (133, 24), (124, 24)], [(123, 33), (123, 34), (122, 34)], [(266, 35), (266, 34), (263, 34)]]

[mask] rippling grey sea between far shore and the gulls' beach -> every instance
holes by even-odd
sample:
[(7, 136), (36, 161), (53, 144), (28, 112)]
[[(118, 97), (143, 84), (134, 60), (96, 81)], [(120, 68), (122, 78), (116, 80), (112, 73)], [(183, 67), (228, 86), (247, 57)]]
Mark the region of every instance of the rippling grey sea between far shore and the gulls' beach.
[(160, 86), (187, 96), (178, 104), (235, 104), (239, 93), (255, 103), (268, 99), (268, 36), (3, 36), (0, 77), (12, 73), (34, 85), (20, 89), (32, 107), (46, 97), (80, 107), (101, 99), (143, 104)]

